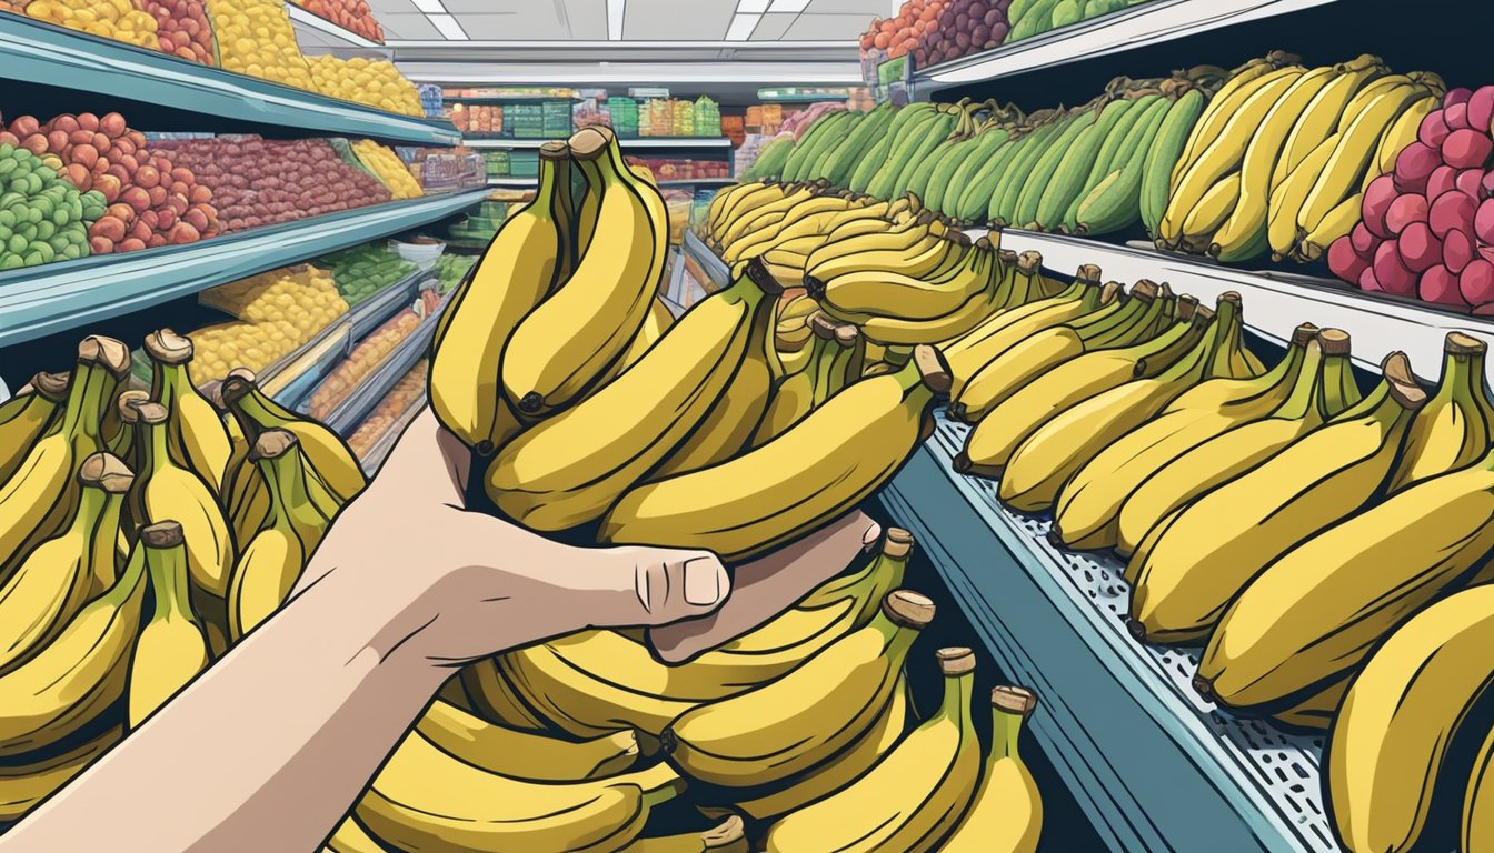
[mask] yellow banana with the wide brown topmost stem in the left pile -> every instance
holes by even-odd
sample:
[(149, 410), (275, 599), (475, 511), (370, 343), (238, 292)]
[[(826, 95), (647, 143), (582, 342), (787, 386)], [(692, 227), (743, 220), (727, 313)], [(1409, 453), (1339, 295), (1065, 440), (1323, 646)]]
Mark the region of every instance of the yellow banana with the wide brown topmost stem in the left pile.
[(166, 444), (182, 468), (190, 468), (218, 496), (233, 445), (223, 418), (212, 403), (197, 391), (187, 363), (193, 357), (190, 338), (161, 329), (145, 336), (145, 354), (151, 359), (151, 399), (166, 406)]

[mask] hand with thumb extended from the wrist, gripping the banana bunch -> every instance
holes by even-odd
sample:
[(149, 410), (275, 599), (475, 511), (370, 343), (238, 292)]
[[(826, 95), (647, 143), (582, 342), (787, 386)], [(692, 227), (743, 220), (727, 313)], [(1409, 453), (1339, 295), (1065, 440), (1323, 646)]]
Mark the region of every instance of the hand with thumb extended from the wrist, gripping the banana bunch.
[(726, 599), (731, 580), (707, 551), (580, 548), (468, 511), (468, 454), (429, 409), (417, 417), (291, 598), (323, 583), (391, 596), (382, 604), (403, 615), (378, 645), (438, 668), (586, 627), (701, 617)]

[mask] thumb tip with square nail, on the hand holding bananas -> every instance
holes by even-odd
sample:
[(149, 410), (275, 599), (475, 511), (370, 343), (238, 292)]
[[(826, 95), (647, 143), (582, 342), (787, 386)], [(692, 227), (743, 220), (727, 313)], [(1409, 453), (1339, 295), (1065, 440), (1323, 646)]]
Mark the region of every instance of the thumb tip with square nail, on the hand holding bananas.
[(731, 593), (731, 577), (710, 551), (611, 548), (592, 577), (587, 621), (596, 627), (657, 626), (710, 614)]

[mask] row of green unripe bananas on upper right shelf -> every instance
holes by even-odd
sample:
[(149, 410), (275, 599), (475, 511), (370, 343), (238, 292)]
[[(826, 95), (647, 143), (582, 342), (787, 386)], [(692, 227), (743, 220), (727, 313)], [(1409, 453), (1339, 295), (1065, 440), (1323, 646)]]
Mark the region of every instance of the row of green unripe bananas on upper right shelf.
[(763, 148), (744, 179), (823, 181), (872, 199), (905, 193), (950, 220), (1103, 235), (1167, 200), (1168, 178), (1228, 72), (1116, 78), (1074, 109), (1022, 115), (994, 102), (832, 112)]

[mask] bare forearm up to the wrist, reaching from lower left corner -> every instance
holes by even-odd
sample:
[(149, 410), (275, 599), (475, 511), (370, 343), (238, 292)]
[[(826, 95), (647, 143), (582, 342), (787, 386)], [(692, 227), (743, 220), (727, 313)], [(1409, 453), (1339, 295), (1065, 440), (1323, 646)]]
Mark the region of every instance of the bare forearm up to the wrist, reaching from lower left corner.
[(421, 596), (338, 578), (245, 638), (0, 852), (314, 850), (442, 675), (400, 642)]

